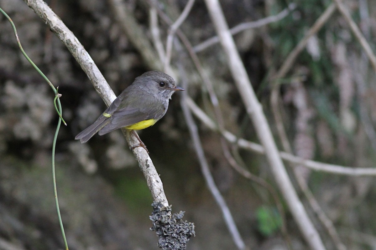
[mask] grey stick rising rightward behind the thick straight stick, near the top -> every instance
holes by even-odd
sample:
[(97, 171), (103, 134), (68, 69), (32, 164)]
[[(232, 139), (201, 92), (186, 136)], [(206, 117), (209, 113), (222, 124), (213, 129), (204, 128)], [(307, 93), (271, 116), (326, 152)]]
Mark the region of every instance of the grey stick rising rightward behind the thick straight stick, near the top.
[[(272, 22), (280, 21), (280, 20), (284, 19), (292, 10), (294, 10), (296, 8), (296, 6), (297, 5), (295, 3), (290, 3), (286, 9), (282, 10), (281, 12), (279, 12), (275, 16), (268, 16), (268, 17), (259, 19), (257, 21), (252, 21), (252, 22), (243, 22), (243, 23), (238, 24), (238, 25), (234, 26), (233, 28), (231, 28), (230, 32), (231, 32), (232, 35), (235, 35), (237, 33), (240, 33), (241, 31), (244, 31), (244, 30), (249, 30), (251, 28), (259, 28), (259, 27), (262, 27), (264, 25), (270, 24)], [(193, 51), (196, 52), (196, 53), (203, 51), (206, 48), (209, 48), (210, 46), (212, 46), (212, 45), (214, 45), (218, 42), (219, 42), (218, 36), (213, 36), (213, 37), (203, 41), (202, 43), (194, 46)]]

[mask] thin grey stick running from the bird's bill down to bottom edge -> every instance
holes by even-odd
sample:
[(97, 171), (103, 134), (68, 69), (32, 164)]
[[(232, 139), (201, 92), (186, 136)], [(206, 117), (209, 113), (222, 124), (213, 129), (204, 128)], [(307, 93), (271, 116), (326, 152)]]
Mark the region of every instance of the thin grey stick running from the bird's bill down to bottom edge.
[[(180, 75), (182, 76), (183, 88), (186, 88), (187, 76), (185, 76), (184, 70), (182, 70), (181, 65), (179, 65), (179, 71), (180, 71)], [(208, 162), (206, 161), (205, 153), (200, 142), (200, 136), (199, 136), (199, 132), (197, 129), (197, 125), (195, 124), (193, 120), (190, 109), (188, 108), (188, 106), (185, 105), (186, 98), (189, 98), (187, 92), (182, 93), (182, 98), (180, 99), (180, 105), (182, 107), (185, 121), (188, 125), (188, 129), (190, 131), (191, 138), (193, 140), (194, 149), (196, 150), (197, 157), (199, 158), (202, 174), (205, 177), (206, 184), (208, 185), (209, 190), (212, 193), (215, 201), (217, 202), (218, 206), (221, 208), (224, 221), (226, 222), (227, 228), (230, 231), (230, 234), (233, 238), (235, 245), (240, 250), (246, 249), (246, 245), (244, 244), (244, 241), (242, 240), (240, 236), (240, 233), (233, 220), (229, 207), (227, 206), (226, 201), (224, 200), (223, 196), (221, 195), (217, 186), (215, 185), (214, 179), (211, 175), (209, 165), (208, 165)]]

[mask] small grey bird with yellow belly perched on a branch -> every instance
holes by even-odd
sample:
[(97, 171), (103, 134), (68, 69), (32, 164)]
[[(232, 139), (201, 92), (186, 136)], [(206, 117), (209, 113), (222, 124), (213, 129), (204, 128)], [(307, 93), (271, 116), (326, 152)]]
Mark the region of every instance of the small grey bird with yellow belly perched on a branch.
[[(133, 133), (134, 130), (146, 129), (166, 114), (172, 94), (182, 90), (184, 89), (177, 87), (174, 79), (164, 72), (145, 72), (136, 77), (98, 119), (74, 139), (85, 143), (96, 133), (105, 135), (123, 127)], [(140, 143), (132, 149), (143, 147), (147, 151), (137, 133), (134, 135)]]

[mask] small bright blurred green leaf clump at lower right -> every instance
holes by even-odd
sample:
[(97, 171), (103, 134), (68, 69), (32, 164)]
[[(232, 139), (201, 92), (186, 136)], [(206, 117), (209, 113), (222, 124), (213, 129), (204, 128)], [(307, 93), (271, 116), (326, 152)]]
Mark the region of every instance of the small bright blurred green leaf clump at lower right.
[(274, 207), (262, 206), (256, 211), (258, 230), (264, 236), (270, 236), (282, 226), (282, 218)]

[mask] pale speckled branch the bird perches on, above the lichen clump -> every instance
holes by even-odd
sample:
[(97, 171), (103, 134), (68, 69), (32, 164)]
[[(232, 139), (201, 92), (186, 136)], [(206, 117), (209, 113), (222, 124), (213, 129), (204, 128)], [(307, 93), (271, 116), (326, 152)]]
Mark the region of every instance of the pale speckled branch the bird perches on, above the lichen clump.
[[(88, 75), (100, 97), (102, 97), (106, 105), (109, 106), (116, 96), (109, 87), (102, 73), (100, 73), (94, 61), (91, 59), (88, 52), (85, 50), (85, 48), (83, 48), (74, 34), (65, 26), (61, 19), (52, 11), (52, 9), (50, 9), (49, 6), (47, 6), (44, 1), (24, 1), (40, 18), (44, 20), (44, 22), (49, 26), (50, 30), (52, 30), (53, 33), (59, 37), (64, 45), (67, 46), (68, 50), (80, 64), (86, 75)], [(125, 132), (126, 131), (123, 130), (123, 133)], [(130, 147), (139, 144), (134, 135), (127, 135), (126, 137), (127, 141), (130, 142)], [(159, 178), (158, 172), (156, 171), (155, 166), (153, 165), (153, 162), (146, 150), (144, 150), (142, 147), (136, 147), (132, 151), (133, 154), (135, 154), (141, 171), (146, 178), (147, 185), (153, 196), (153, 200), (156, 202), (161, 202), (167, 207), (168, 201), (163, 190), (162, 181)]]

